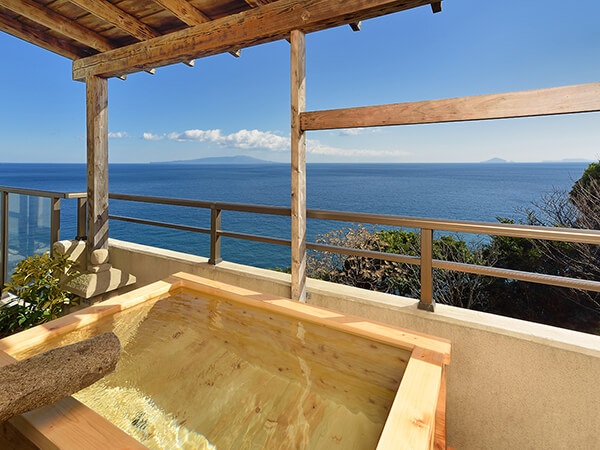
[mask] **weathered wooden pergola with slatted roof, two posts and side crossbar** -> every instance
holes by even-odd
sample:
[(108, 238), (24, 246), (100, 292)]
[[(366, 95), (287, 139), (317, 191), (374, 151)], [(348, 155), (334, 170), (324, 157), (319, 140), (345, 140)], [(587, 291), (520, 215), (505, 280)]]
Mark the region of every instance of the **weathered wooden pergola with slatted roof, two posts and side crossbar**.
[[(73, 79), (86, 83), (90, 252), (108, 245), (107, 79), (289, 40), (292, 298), (305, 301), (306, 131), (600, 111), (600, 83), (305, 111), (306, 33), (341, 25), (356, 31), (362, 20), (426, 5), (441, 11), (440, 0), (0, 0), (0, 30), (72, 59)], [(424, 248), (431, 240), (431, 230), (423, 230)], [(424, 265), (422, 277), (430, 278)], [(422, 292), (421, 304), (429, 308), (431, 298)]]

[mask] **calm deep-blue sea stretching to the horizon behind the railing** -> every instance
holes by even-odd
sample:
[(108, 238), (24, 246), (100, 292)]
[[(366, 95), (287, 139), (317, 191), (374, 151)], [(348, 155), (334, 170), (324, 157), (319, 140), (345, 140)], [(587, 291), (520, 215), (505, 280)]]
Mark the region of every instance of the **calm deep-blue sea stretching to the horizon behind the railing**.
[[(586, 163), (539, 164), (309, 164), (309, 208), (495, 221), (517, 217), (553, 188), (568, 189)], [(0, 164), (0, 185), (56, 191), (85, 191), (82, 164)], [(209, 201), (289, 206), (290, 168), (268, 165), (162, 165), (114, 164), (110, 166), (110, 191), (127, 194), (190, 198)], [(61, 237), (75, 235), (75, 201), (62, 202)], [(43, 249), (24, 244), (26, 233), (19, 214), (37, 211), (30, 234), (47, 232), (49, 202), (29, 202), (11, 196), (11, 259)], [(209, 227), (204, 210), (111, 201), (111, 213), (157, 221)], [(21, 216), (23, 217), (23, 216)], [(289, 238), (289, 218), (223, 213), (223, 229)], [(23, 223), (23, 222), (21, 222)], [(309, 220), (309, 240), (347, 225)], [(42, 231), (40, 231), (42, 230)], [(20, 233), (20, 234), (19, 234)], [(123, 222), (111, 222), (110, 236), (140, 244), (157, 245), (208, 256), (208, 236)], [(31, 241), (31, 239), (29, 239)], [(13, 248), (14, 247), (14, 248)], [(223, 258), (259, 267), (286, 267), (286, 247), (224, 239)]]

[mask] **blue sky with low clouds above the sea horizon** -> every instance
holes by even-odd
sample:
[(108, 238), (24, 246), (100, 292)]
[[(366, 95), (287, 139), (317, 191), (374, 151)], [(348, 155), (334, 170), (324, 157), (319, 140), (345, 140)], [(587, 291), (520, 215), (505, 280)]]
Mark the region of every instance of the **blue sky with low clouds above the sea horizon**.
[[(600, 81), (600, 2), (446, 0), (307, 36), (307, 109)], [(0, 162), (85, 161), (71, 62), (0, 32)], [(109, 81), (110, 161), (289, 160), (289, 44)], [(600, 113), (308, 133), (309, 162), (598, 159)]]

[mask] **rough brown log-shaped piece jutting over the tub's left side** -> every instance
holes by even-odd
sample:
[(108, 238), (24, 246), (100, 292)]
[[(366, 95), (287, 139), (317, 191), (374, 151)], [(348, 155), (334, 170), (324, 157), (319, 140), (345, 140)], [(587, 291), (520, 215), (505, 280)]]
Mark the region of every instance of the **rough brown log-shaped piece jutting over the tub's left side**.
[(108, 332), (0, 367), (0, 422), (90, 386), (120, 357), (119, 338)]

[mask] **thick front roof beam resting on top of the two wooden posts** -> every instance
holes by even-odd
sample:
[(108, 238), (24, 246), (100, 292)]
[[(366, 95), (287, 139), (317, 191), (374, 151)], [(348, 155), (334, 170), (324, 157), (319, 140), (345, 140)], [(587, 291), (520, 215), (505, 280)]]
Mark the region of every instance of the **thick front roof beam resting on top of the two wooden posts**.
[[(12, 0), (16, 1), (16, 0)], [(430, 0), (278, 0), (212, 22), (131, 44), (73, 63), (73, 78), (110, 77), (203, 58), (285, 39), (294, 29), (310, 33), (390, 14)]]

